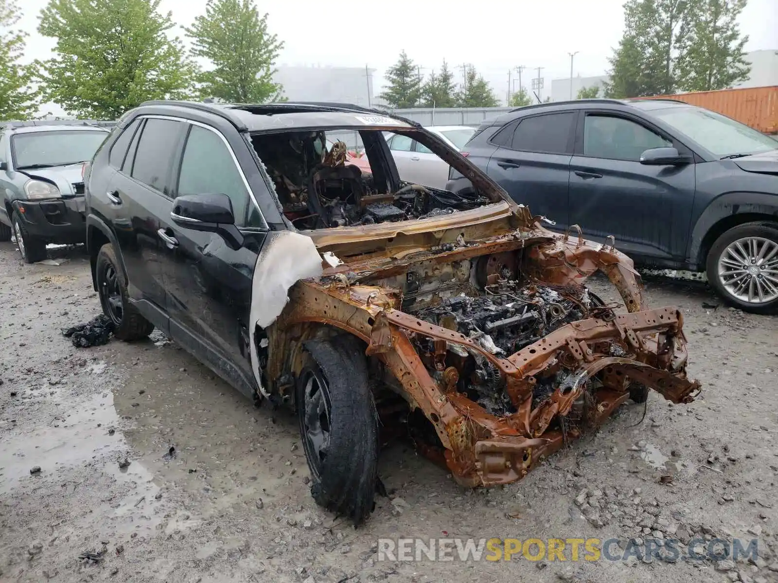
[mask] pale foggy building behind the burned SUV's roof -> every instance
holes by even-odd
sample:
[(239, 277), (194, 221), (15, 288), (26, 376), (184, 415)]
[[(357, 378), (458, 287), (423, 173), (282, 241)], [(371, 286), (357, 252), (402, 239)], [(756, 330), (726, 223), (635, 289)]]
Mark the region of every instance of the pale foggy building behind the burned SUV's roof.
[(289, 101), (353, 103), (373, 102), (375, 69), (359, 67), (307, 67), (280, 65), (273, 81), (281, 83)]

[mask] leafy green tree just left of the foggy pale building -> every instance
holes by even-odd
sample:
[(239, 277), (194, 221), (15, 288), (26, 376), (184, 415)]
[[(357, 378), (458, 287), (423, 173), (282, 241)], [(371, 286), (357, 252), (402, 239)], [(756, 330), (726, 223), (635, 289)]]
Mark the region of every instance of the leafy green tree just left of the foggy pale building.
[(186, 30), (191, 54), (213, 68), (198, 75), (200, 91), (231, 103), (277, 100), (282, 86), (273, 82), (275, 60), (284, 44), (268, 33), (268, 15), (259, 16), (254, 0), (209, 0), (205, 15)]

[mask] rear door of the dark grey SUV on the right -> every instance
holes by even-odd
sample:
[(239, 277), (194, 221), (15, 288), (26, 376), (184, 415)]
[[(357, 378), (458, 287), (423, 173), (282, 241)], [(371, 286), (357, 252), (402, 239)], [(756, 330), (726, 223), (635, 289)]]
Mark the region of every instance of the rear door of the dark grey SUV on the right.
[(498, 148), (489, 159), (489, 176), (533, 215), (555, 221), (552, 229), (567, 225), (576, 117), (576, 111), (521, 117), (491, 140)]

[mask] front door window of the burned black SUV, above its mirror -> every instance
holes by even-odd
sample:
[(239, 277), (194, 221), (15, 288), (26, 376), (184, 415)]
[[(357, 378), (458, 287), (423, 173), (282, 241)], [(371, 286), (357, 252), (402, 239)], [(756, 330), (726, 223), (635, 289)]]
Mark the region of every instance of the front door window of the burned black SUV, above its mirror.
[(178, 194), (217, 193), (230, 197), (235, 222), (243, 226), (249, 205), (248, 190), (230, 150), (219, 134), (193, 125), (181, 161)]

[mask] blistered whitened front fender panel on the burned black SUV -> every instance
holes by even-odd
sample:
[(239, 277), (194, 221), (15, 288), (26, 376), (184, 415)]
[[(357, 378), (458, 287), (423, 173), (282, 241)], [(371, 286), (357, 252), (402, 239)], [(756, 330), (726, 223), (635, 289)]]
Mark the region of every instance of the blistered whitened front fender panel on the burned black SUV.
[(272, 232), (265, 241), (254, 266), (251, 284), (251, 366), (254, 379), (263, 395), (257, 343), (257, 326), (267, 328), (281, 315), (289, 302), (289, 288), (297, 281), (315, 278), (322, 273), (321, 255), (310, 237), (297, 232)]

